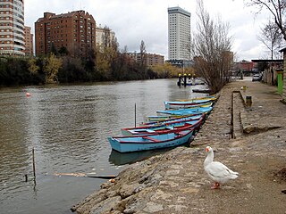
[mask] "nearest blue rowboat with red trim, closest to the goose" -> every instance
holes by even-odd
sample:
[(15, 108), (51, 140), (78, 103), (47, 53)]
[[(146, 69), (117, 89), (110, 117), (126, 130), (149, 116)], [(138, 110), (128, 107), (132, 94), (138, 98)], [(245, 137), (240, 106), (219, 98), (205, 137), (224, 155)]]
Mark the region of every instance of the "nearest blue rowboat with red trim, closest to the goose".
[(108, 136), (107, 139), (117, 152), (138, 152), (187, 144), (193, 139), (193, 131), (188, 129), (154, 136)]

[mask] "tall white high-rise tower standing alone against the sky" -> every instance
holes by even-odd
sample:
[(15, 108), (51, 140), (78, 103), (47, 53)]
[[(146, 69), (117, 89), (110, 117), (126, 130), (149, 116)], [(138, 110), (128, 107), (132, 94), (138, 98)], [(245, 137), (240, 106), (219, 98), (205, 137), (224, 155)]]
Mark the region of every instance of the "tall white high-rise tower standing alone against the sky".
[(190, 12), (181, 7), (168, 8), (169, 60), (189, 61)]

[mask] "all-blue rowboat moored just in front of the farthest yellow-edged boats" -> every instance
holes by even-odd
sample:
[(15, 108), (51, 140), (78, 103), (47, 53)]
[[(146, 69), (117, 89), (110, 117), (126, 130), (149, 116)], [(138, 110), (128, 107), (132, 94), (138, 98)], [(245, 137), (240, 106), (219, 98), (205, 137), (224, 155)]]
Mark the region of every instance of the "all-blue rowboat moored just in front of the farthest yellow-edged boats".
[(208, 113), (212, 110), (213, 110), (213, 107), (209, 106), (209, 107), (198, 107), (198, 108), (191, 108), (191, 109), (156, 111), (156, 113), (158, 116), (164, 116), (164, 115), (184, 116), (184, 115)]

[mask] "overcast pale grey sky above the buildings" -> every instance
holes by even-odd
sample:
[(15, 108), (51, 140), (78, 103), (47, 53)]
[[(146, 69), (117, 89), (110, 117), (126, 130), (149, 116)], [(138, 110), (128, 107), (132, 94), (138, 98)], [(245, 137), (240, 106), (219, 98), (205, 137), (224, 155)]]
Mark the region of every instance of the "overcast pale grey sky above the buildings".
[[(230, 24), (236, 61), (266, 58), (265, 46), (257, 36), (270, 19), (269, 13), (256, 15), (256, 9), (246, 7), (243, 0), (204, 0), (204, 4), (213, 20), (220, 16)], [(34, 34), (34, 23), (44, 12), (84, 10), (97, 25), (114, 30), (121, 50), (126, 45), (129, 52), (139, 52), (143, 40), (147, 53), (163, 54), (167, 60), (168, 7), (180, 6), (190, 12), (191, 30), (196, 31), (196, 5), (196, 0), (25, 0), (25, 25)]]

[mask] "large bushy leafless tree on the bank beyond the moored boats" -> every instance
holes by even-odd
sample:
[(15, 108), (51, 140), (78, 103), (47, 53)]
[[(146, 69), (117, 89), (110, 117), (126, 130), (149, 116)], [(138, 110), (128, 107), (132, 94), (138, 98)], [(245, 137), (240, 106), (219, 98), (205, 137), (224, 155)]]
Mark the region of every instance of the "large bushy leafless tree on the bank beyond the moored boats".
[(213, 21), (204, 9), (202, 0), (198, 4), (198, 32), (193, 37), (192, 52), (195, 70), (206, 79), (212, 93), (217, 93), (230, 81), (231, 37), (228, 36), (229, 25), (218, 19)]

